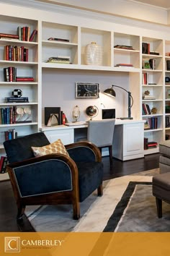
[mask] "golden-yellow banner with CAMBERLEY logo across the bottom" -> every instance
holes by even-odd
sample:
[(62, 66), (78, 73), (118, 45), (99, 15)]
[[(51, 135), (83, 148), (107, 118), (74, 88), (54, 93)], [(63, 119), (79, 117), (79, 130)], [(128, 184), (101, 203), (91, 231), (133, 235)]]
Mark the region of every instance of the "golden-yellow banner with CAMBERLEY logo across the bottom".
[[(167, 256), (170, 233), (0, 233), (0, 255)], [(12, 254), (10, 254), (12, 255)]]

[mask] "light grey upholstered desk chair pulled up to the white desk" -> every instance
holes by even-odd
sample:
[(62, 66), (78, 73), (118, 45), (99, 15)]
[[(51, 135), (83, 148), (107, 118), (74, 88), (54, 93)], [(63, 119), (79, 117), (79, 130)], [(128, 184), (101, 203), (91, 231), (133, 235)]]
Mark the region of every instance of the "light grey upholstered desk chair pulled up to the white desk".
[(109, 148), (109, 163), (112, 165), (112, 142), (115, 119), (89, 120), (87, 140), (102, 148)]

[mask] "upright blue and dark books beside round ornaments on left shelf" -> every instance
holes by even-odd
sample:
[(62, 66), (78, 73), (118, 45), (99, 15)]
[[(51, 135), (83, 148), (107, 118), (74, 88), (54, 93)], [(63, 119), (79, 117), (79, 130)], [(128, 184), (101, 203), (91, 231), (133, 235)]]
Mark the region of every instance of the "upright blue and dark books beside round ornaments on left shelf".
[(0, 109), (0, 124), (16, 124), (17, 106)]

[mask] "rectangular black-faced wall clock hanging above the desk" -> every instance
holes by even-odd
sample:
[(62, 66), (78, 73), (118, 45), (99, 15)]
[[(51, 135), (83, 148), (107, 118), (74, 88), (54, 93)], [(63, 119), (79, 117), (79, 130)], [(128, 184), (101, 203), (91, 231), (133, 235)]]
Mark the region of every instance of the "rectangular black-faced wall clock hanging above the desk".
[(76, 82), (76, 98), (99, 98), (99, 84)]

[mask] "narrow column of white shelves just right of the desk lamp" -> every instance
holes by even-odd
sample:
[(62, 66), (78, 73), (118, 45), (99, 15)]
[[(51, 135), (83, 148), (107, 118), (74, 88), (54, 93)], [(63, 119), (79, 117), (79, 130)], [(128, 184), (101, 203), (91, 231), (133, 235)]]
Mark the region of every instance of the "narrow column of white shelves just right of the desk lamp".
[[(146, 90), (155, 99), (142, 99), (142, 104), (148, 108), (156, 108), (156, 114), (142, 115), (154, 129), (144, 129), (144, 137), (148, 141), (164, 140), (164, 42), (157, 38), (142, 37), (142, 85), (144, 95)], [(152, 54), (151, 54), (152, 53)], [(156, 54), (154, 54), (156, 53)], [(145, 68), (148, 65), (151, 68)], [(148, 85), (151, 84), (151, 85)], [(142, 96), (143, 96), (142, 95)], [(143, 106), (143, 109), (145, 107)], [(144, 111), (144, 110), (143, 110)], [(158, 147), (144, 150), (144, 155), (158, 153)]]

